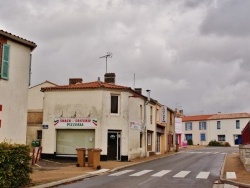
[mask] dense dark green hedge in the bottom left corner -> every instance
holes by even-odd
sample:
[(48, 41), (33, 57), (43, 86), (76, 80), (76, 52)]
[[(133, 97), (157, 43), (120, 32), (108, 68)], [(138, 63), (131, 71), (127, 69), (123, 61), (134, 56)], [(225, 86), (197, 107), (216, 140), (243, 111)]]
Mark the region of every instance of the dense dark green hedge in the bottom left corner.
[(0, 143), (0, 187), (26, 187), (31, 182), (30, 147), (24, 144)]

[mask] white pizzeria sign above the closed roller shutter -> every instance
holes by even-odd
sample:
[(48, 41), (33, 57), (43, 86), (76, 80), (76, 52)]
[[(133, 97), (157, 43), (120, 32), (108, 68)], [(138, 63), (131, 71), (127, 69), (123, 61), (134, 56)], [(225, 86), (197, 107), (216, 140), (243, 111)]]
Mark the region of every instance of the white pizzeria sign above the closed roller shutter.
[(54, 126), (56, 128), (87, 128), (96, 127), (95, 118), (55, 118)]

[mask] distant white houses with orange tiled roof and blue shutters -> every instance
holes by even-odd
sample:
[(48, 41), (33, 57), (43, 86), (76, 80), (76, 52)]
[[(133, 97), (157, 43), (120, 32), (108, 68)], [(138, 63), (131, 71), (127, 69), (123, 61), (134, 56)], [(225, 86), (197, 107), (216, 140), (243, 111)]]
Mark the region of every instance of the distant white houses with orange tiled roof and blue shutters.
[(249, 120), (250, 113), (183, 116), (182, 141), (192, 140), (195, 145), (208, 145), (216, 140), (236, 146), (242, 143), (241, 131)]

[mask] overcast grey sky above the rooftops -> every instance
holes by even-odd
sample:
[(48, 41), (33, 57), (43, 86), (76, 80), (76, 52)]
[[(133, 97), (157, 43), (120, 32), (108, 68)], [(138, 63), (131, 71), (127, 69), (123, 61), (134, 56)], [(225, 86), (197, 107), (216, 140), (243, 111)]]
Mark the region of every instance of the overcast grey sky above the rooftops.
[(38, 45), (32, 86), (103, 81), (111, 52), (117, 85), (172, 109), (250, 112), (249, 10), (249, 0), (0, 0), (0, 29)]

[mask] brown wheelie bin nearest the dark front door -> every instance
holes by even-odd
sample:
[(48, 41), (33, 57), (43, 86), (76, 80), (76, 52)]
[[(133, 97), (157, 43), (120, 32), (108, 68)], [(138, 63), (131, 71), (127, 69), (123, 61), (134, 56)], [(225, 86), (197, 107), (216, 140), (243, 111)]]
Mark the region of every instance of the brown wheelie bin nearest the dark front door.
[(100, 169), (101, 149), (88, 148), (88, 166), (93, 166), (94, 169)]

